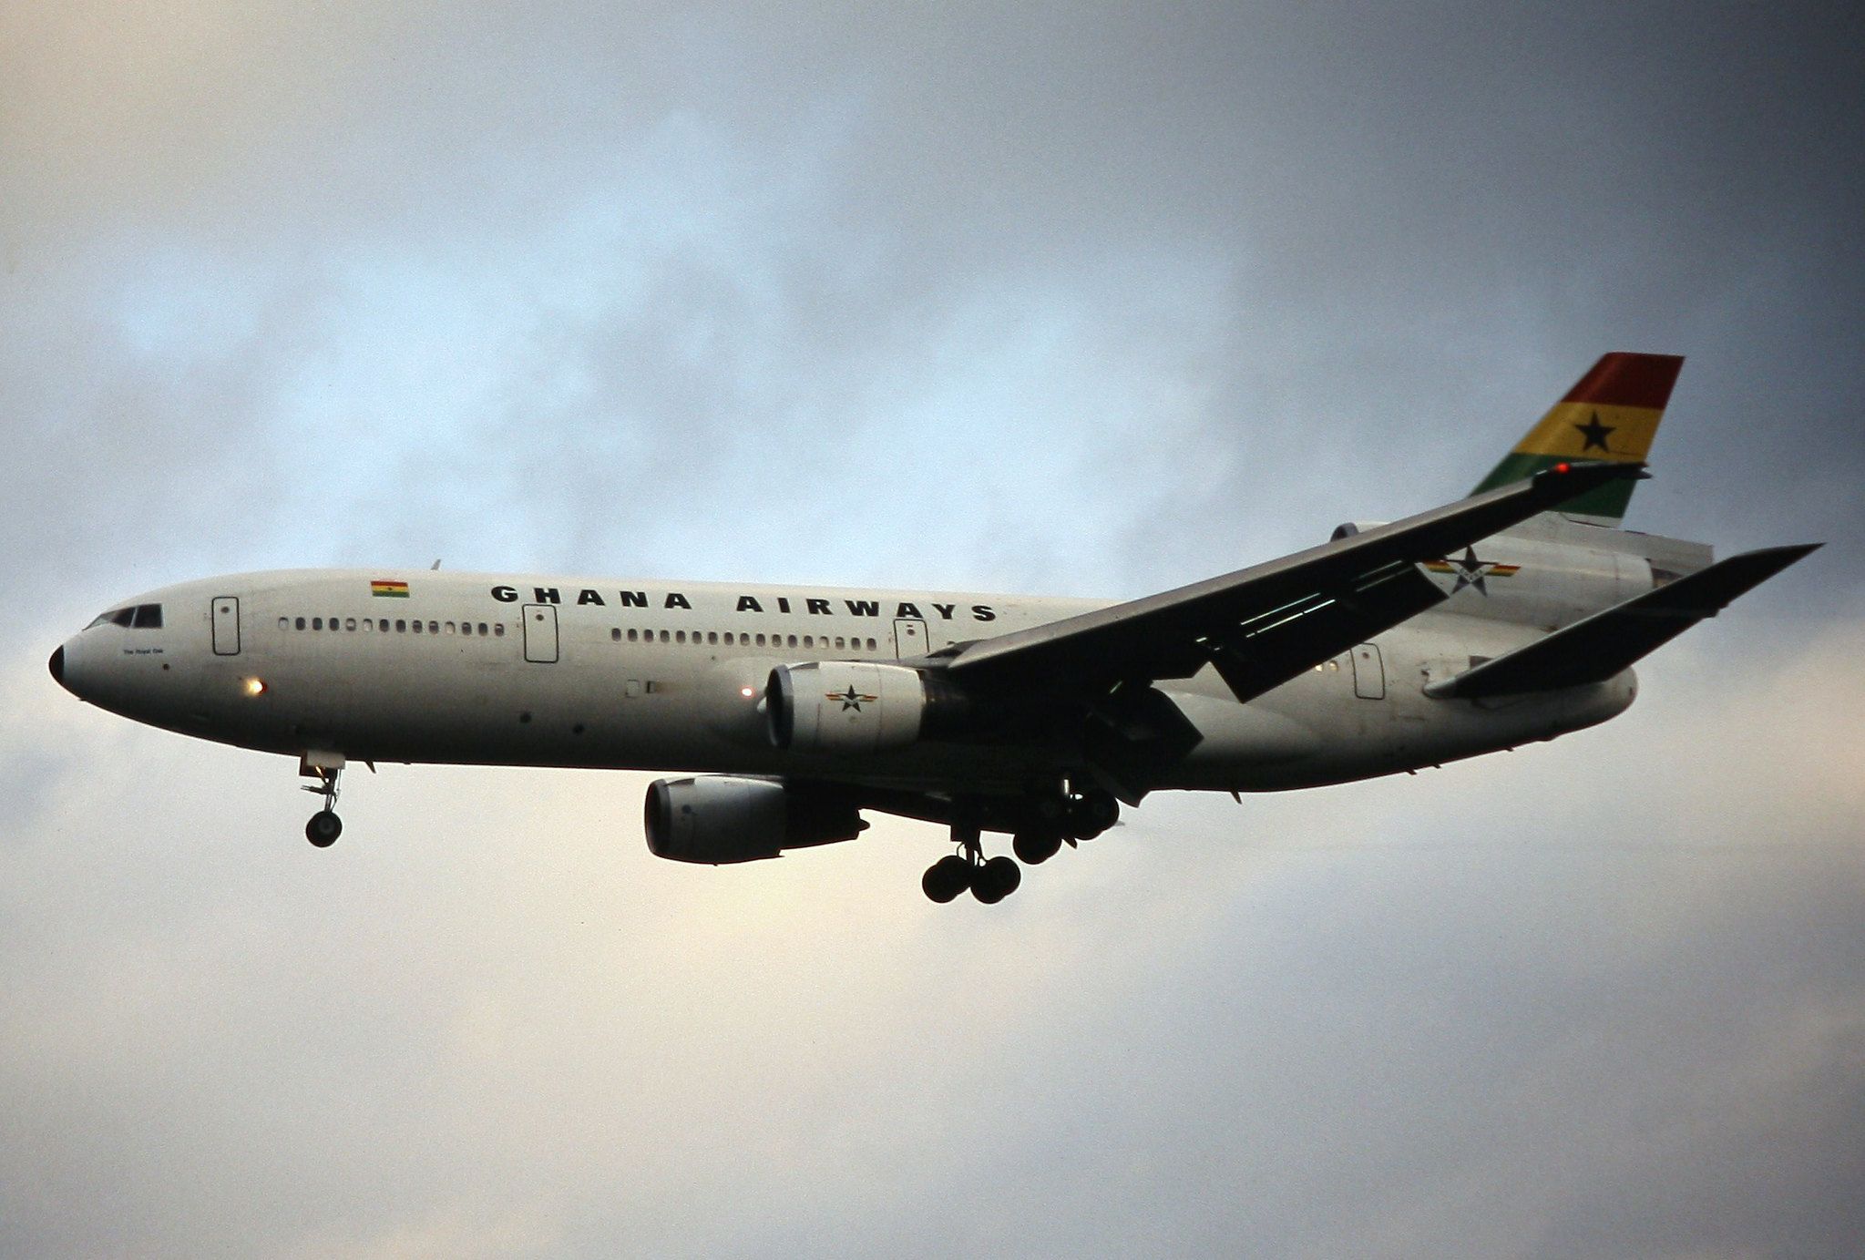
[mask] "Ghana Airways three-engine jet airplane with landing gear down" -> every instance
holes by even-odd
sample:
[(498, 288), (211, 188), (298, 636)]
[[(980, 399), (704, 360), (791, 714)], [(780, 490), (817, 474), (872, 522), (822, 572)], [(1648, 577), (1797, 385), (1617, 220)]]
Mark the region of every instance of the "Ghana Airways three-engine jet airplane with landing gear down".
[(48, 664), (297, 757), (317, 846), (349, 762), (649, 770), (681, 775), (647, 788), (660, 857), (770, 859), (875, 811), (949, 829), (931, 900), (994, 904), (1153, 792), (1417, 772), (1624, 712), (1636, 660), (1820, 546), (1718, 561), (1621, 526), (1680, 369), (1606, 354), (1468, 498), (1119, 604), (282, 570), (123, 600)]

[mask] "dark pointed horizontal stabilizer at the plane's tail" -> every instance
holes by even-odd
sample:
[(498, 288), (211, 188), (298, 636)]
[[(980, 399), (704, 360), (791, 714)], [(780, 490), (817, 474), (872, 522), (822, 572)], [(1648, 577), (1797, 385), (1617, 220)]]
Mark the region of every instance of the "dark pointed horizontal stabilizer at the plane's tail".
[(1604, 682), (1705, 617), (1714, 617), (1738, 595), (1759, 587), (1818, 546), (1818, 542), (1770, 546), (1731, 555), (1688, 578), (1576, 621), (1546, 639), (1486, 660), (1455, 678), (1432, 682), (1425, 688), (1425, 695), (1481, 699)]

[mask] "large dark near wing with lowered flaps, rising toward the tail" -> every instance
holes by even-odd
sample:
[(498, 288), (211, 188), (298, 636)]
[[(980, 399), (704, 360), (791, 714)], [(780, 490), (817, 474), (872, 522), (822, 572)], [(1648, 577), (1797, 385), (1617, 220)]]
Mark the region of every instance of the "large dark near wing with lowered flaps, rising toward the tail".
[(1555, 464), (1527, 481), (1222, 578), (981, 639), (946, 665), (968, 684), (1093, 699), (1121, 684), (1188, 678), (1212, 664), (1248, 701), (1445, 598), (1419, 561), (1645, 475), (1641, 464)]

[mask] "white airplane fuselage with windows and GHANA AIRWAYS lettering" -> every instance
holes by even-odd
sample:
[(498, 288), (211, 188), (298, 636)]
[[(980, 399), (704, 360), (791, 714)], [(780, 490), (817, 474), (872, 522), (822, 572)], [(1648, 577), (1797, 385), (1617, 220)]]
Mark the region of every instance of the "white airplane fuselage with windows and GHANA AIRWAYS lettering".
[[(1494, 541), (1492, 541), (1494, 542)], [(1498, 703), (1427, 682), (1651, 589), (1651, 565), (1513, 541), (1483, 589), (1236, 703), (1212, 669), (1160, 682), (1203, 736), (1147, 790), (1339, 783), (1552, 738), (1623, 712), (1632, 673)], [(1591, 559), (1587, 559), (1591, 555)], [(1505, 572), (1513, 570), (1513, 572)], [(1444, 578), (1449, 589), (1451, 576)], [(405, 585), (403, 585), (405, 583)], [(919, 742), (860, 759), (781, 751), (772, 667), (895, 662), (1071, 617), (1097, 600), (425, 570), (287, 570), (136, 596), (159, 628), (93, 624), (62, 680), (114, 712), (207, 740), (347, 760), (595, 766), (1015, 792), (1074, 749)]]

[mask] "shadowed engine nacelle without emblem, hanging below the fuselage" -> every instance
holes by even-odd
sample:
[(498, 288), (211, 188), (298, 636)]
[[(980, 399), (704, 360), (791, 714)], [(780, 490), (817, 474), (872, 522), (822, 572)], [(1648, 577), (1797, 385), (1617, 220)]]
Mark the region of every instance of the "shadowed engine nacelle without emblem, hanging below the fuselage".
[(839, 800), (800, 794), (770, 779), (701, 775), (647, 785), (647, 848), (655, 857), (722, 865), (776, 857), (785, 848), (852, 841), (867, 824)]

